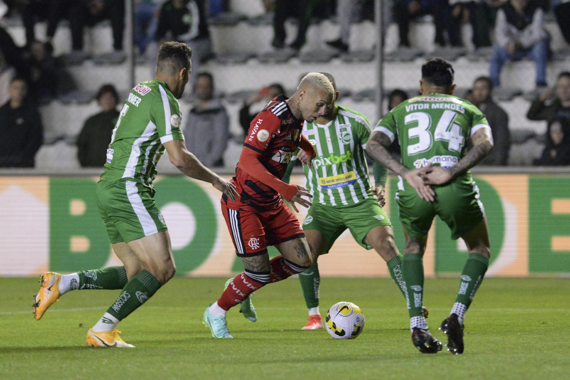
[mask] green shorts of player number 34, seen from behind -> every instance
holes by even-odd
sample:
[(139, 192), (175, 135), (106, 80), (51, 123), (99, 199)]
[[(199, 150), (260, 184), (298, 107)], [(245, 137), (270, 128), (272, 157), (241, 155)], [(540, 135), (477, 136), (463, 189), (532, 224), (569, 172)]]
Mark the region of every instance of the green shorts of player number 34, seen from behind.
[(473, 230), (483, 220), (485, 211), (479, 200), (479, 188), (470, 175), (449, 185), (434, 186), (433, 190), (435, 201), (427, 202), (408, 183), (404, 185), (402, 179), (398, 182), (396, 202), (400, 221), (412, 238), (427, 235), (435, 215), (449, 226), (454, 240)]

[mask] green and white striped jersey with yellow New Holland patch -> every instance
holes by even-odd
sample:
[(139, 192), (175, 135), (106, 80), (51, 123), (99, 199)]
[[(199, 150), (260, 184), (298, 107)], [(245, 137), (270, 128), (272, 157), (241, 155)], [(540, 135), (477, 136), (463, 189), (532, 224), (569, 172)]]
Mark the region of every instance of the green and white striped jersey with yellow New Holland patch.
[(364, 157), (371, 131), (370, 122), (363, 114), (338, 105), (335, 118), (328, 124), (305, 122), (302, 133), (317, 152), (313, 168), (304, 166), (313, 202), (355, 205), (373, 197)]

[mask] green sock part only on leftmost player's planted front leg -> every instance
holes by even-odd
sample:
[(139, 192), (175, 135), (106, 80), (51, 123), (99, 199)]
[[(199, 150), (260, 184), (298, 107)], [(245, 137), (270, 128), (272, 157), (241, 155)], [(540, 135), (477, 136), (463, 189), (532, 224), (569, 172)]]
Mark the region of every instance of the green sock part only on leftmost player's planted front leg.
[(160, 284), (156, 277), (143, 269), (129, 280), (107, 313), (121, 321), (144, 304), (159, 288)]

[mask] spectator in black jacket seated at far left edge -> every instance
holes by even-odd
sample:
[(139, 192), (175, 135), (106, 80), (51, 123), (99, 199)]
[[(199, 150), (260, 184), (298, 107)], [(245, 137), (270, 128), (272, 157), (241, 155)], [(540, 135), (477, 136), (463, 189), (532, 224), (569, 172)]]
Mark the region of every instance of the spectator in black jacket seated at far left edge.
[(10, 100), (0, 107), (0, 134), (0, 167), (34, 167), (43, 142), (42, 117), (22, 77), (11, 81)]

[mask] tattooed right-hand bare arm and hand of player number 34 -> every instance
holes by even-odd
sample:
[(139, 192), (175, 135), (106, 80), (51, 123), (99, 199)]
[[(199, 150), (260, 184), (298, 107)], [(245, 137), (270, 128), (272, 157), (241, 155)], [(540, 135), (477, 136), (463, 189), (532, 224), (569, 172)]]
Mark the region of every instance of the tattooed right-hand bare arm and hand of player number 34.
[(449, 169), (441, 166), (431, 167), (425, 175), (426, 183), (429, 183), (429, 185), (441, 185), (449, 182), (487, 157), (493, 148), (491, 129), (478, 129), (471, 137), (471, 142), (473, 142), (473, 148), (454, 166)]

